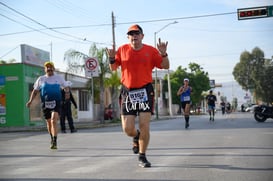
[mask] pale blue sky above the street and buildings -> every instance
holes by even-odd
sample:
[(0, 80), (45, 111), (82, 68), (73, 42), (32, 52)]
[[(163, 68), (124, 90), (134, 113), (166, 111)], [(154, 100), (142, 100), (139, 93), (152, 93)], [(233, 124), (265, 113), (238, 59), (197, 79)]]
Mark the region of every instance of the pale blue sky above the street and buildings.
[[(116, 19), (116, 44), (127, 43), (133, 23), (144, 30), (144, 43), (154, 45), (154, 32), (168, 41), (171, 69), (201, 65), (216, 83), (232, 81), (240, 54), (261, 48), (273, 56), (273, 17), (238, 21), (238, 8), (273, 5), (272, 0), (0, 0), (0, 57), (20, 61), (20, 44), (51, 51), (56, 67), (65, 70), (65, 51), (88, 54), (91, 42), (111, 47), (111, 12)], [(21, 13), (18, 14), (17, 12)], [(231, 13), (202, 17), (206, 15)], [(23, 15), (23, 16), (22, 16)], [(36, 23), (27, 19), (27, 16)], [(197, 16), (201, 16), (197, 18)], [(39, 24), (40, 23), (40, 24)], [(45, 27), (60, 33), (45, 30)], [(44, 29), (41, 32), (33, 29)], [(24, 32), (24, 33), (19, 33)], [(48, 35), (46, 35), (47, 33)], [(65, 35), (66, 34), (66, 35)], [(83, 41), (86, 39), (86, 41)]]

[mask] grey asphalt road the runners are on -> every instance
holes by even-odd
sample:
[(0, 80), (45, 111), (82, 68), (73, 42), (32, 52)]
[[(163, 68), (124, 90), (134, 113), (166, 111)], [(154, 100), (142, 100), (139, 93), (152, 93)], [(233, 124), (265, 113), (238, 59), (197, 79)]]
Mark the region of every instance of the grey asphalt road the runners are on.
[(273, 119), (257, 123), (251, 113), (191, 116), (151, 122), (147, 158), (138, 167), (131, 138), (120, 126), (59, 134), (49, 149), (41, 132), (0, 133), (0, 180), (19, 181), (272, 181)]

